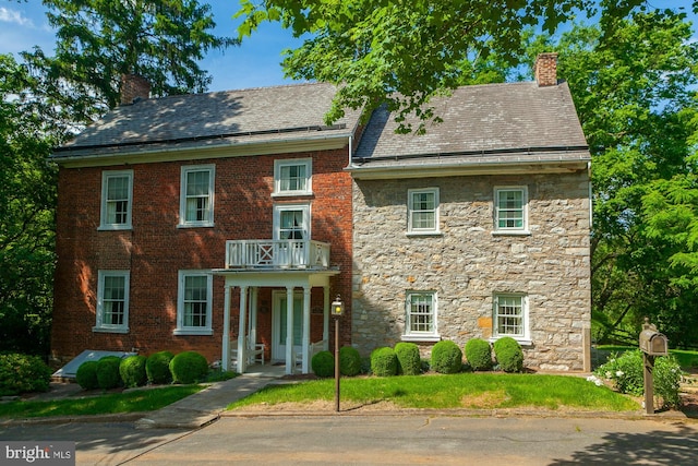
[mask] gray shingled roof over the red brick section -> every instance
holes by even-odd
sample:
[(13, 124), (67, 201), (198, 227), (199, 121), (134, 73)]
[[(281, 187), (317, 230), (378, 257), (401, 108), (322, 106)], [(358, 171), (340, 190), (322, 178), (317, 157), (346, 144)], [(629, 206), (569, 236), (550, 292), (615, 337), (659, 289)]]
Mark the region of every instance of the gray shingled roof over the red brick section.
[(325, 83), (293, 84), (141, 100), (113, 109), (53, 156), (348, 136), (359, 111), (332, 127), (323, 121), (335, 92)]

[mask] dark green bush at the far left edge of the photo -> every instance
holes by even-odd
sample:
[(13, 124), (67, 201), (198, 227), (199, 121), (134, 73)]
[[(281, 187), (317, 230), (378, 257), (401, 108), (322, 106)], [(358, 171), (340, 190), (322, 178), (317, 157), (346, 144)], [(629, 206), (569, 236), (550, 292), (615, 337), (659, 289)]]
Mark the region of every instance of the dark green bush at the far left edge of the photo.
[(38, 356), (0, 355), (0, 395), (47, 392), (50, 380), (51, 370)]

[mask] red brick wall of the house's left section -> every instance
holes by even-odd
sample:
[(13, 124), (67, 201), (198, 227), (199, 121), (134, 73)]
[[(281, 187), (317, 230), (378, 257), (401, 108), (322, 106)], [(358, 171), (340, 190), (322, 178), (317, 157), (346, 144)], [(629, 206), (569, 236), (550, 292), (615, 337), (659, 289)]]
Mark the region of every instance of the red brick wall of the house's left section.
[[(195, 162), (135, 164), (94, 168), (61, 168), (57, 212), (58, 265), (51, 354), (65, 361), (84, 349), (194, 349), (209, 361), (220, 358), (224, 279), (214, 277), (213, 336), (176, 336), (178, 271), (221, 268), (226, 240), (270, 239), (274, 160), (313, 158), (313, 195), (282, 202), (309, 201), (312, 239), (332, 244), (332, 265), (341, 273), (333, 279), (330, 300), (340, 294), (347, 303), (342, 344), (350, 344), (351, 302), (351, 177), (347, 148), (274, 156), (214, 158)], [(215, 227), (177, 228), (182, 165), (214, 164)], [(98, 231), (101, 172), (133, 170), (132, 230)], [(277, 202), (281, 202), (277, 200)], [(99, 270), (131, 272), (129, 333), (93, 332), (96, 322)], [(231, 334), (239, 318), (239, 290), (231, 299)], [(261, 308), (270, 310), (272, 290), (260, 291)], [(312, 304), (322, 307), (322, 289), (313, 289)], [(266, 303), (266, 304), (265, 304)], [(322, 337), (322, 315), (312, 315), (312, 340)], [(330, 331), (334, 328), (330, 325)], [(270, 347), (272, 313), (260, 313), (258, 339)], [(334, 336), (333, 336), (334, 338)], [(267, 355), (268, 357), (268, 355)]]

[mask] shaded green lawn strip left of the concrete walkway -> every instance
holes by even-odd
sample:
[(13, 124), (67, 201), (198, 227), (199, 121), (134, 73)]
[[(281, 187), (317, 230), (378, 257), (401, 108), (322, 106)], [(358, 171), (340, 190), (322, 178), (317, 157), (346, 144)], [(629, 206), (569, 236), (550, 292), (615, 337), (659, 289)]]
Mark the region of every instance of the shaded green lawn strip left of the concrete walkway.
[(203, 385), (173, 385), (80, 398), (2, 403), (0, 404), (0, 418), (152, 411), (192, 395), (203, 387)]

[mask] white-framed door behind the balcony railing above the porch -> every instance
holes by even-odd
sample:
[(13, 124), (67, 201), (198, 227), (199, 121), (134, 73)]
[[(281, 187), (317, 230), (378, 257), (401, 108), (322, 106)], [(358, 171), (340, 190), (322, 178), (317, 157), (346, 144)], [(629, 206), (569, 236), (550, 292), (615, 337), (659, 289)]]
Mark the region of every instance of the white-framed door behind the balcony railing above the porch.
[(306, 265), (304, 242), (310, 239), (310, 205), (275, 205), (274, 239), (288, 241), (279, 244), (278, 264)]

